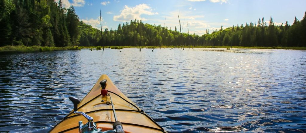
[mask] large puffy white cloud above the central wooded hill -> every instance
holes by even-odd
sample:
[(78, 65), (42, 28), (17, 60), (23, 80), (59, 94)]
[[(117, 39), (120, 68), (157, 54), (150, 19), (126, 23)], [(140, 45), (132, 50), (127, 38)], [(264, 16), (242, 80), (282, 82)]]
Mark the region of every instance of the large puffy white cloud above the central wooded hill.
[(152, 12), (151, 7), (146, 4), (140, 4), (135, 7), (128, 7), (125, 5), (124, 9), (121, 10), (121, 13), (119, 15), (115, 15), (113, 20), (126, 22), (134, 19), (142, 19), (145, 21), (146, 19), (144, 17), (140, 17), (141, 14), (154, 15), (158, 13)]

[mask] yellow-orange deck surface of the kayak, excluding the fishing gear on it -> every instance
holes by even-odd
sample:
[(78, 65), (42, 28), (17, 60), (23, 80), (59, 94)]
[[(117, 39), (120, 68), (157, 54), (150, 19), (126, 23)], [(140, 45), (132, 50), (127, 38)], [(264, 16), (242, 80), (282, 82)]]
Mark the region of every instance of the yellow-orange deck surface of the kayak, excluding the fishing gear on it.
[[(113, 109), (109, 96), (101, 95), (100, 81), (106, 79), (106, 89), (110, 92), (116, 116), (122, 123), (126, 133), (129, 132), (166, 132), (132, 101), (129, 100), (121, 91), (111, 82), (107, 75), (102, 75), (96, 82), (91, 91), (78, 104), (78, 111), (84, 112), (93, 117), (97, 128), (102, 131), (112, 130), (115, 122)], [(109, 102), (109, 103), (107, 103)], [(73, 106), (72, 106), (73, 107)], [(78, 132), (78, 122), (82, 120), (83, 124), (88, 122), (84, 116), (75, 115), (71, 111), (60, 123), (58, 123), (50, 132)]]

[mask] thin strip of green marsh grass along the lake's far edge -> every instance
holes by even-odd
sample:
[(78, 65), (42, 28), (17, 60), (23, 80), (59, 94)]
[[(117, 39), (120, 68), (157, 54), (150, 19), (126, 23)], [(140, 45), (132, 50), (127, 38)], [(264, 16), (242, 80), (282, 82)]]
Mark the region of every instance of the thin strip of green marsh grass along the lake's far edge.
[[(159, 46), (117, 46), (120, 48), (159, 48)], [(174, 46), (162, 46), (161, 48), (173, 48)], [(84, 48), (89, 49), (102, 49), (102, 46), (70, 46), (70, 47), (42, 47), (42, 46), (4, 46), (0, 47), (0, 52), (16, 52), (16, 53), (31, 53), (31, 52), (46, 52), (46, 51), (60, 51), (60, 50), (80, 50)], [(104, 48), (114, 48), (114, 46), (105, 46)], [(188, 48), (188, 46), (184, 47)], [(192, 48), (192, 47), (190, 47)], [(196, 46), (193, 48), (212, 48), (212, 46)], [(214, 46), (213, 48), (230, 48), (229, 46)], [(306, 50), (306, 47), (241, 47), (232, 46), (232, 48), (238, 49), (285, 49), (285, 50)]]

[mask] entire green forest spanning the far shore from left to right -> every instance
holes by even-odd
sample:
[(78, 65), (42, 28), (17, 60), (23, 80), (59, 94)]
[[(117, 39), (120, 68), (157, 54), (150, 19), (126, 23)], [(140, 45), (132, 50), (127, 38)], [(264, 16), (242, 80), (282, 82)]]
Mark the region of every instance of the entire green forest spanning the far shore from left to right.
[(61, 0), (1, 0), (0, 47), (2, 46), (243, 46), (306, 47), (306, 12), (301, 20), (275, 25), (270, 17), (244, 25), (233, 25), (202, 36), (180, 33), (162, 25), (131, 20), (117, 30), (101, 31), (79, 20), (73, 6), (63, 8)]

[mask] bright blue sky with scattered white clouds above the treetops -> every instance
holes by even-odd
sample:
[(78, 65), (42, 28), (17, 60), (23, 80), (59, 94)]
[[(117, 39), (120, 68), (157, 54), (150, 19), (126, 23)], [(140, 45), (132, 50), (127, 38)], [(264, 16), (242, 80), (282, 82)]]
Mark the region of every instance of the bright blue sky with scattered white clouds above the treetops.
[[(58, 1), (58, 0), (55, 0)], [(270, 16), (276, 25), (286, 21), (292, 24), (294, 17), (301, 20), (306, 11), (306, 0), (62, 0), (63, 6), (74, 6), (84, 23), (100, 29), (116, 30), (119, 23), (142, 19), (144, 23), (179, 29), (182, 32), (203, 35), (207, 29), (220, 29), (221, 25), (245, 25)], [(166, 20), (166, 21), (165, 21)], [(188, 25), (188, 27), (187, 27)]]

